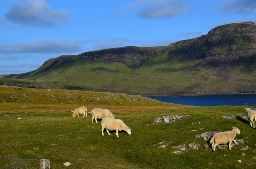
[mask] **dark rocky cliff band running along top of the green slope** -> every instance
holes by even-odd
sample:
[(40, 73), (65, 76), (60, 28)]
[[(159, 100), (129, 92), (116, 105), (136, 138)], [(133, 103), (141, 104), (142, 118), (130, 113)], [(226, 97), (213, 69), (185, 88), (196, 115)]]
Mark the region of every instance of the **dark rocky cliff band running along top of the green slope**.
[[(178, 41), (169, 46), (103, 49), (85, 52), (79, 54), (79, 57), (106, 64), (121, 62), (134, 69), (142, 66), (148, 59), (163, 54), (167, 54), (170, 59), (175, 56), (180, 62), (202, 59), (207, 65), (240, 69), (255, 76), (256, 25), (254, 22), (226, 24), (212, 29), (207, 35)], [(55, 58), (52, 65), (60, 59), (68, 60), (71, 57), (73, 55), (62, 55)]]

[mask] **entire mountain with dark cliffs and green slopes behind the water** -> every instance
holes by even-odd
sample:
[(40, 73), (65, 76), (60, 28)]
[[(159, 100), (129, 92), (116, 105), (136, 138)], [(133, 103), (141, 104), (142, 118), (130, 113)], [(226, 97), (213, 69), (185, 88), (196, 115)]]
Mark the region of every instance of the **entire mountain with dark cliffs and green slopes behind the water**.
[(61, 55), (32, 72), (2, 77), (138, 95), (254, 92), (255, 42), (254, 22), (232, 23), (167, 46), (126, 46)]

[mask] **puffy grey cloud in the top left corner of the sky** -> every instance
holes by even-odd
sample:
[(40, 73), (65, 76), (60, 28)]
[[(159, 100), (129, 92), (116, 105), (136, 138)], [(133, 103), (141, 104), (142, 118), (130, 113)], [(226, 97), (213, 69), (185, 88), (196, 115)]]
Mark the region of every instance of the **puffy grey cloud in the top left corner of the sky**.
[(24, 5), (12, 5), (5, 18), (21, 26), (55, 26), (67, 20), (69, 13), (65, 10), (53, 10), (45, 0), (29, 0)]

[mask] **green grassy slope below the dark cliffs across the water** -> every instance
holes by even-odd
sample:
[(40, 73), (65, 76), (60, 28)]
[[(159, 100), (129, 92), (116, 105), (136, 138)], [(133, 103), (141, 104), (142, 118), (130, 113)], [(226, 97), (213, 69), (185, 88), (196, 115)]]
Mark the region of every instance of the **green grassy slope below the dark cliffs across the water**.
[[(68, 60), (52, 59), (36, 73), (27, 73), (26, 76), (29, 80), (20, 80), (33, 80), (65, 89), (144, 96), (254, 91), (256, 81), (255, 76), (238, 69), (213, 68), (202, 59), (180, 62), (178, 58), (170, 59), (166, 54), (149, 59), (137, 69), (117, 62), (92, 62), (78, 56)], [(5, 81), (7, 79), (0, 79), (0, 82)]]

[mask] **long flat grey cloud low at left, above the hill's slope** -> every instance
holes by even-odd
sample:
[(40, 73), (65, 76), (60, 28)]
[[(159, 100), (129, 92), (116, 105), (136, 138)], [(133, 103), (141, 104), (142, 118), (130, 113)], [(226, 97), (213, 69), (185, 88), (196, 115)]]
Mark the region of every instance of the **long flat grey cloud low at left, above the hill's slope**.
[(0, 44), (0, 53), (70, 53), (81, 50), (75, 42), (69, 41), (30, 41), (24, 43)]

